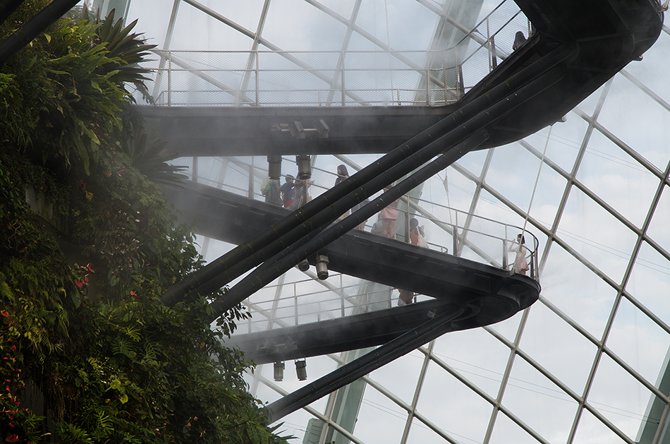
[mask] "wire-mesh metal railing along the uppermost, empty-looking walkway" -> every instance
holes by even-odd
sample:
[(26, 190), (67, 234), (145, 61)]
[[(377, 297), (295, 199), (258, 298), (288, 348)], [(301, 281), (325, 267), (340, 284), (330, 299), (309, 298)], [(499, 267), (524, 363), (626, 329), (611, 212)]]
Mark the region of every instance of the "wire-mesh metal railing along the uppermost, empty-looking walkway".
[[(440, 106), (459, 100), (511, 52), (528, 20), (504, 0), (439, 51), (156, 50), (154, 100), (164, 106)], [(158, 63), (156, 63), (158, 62)]]

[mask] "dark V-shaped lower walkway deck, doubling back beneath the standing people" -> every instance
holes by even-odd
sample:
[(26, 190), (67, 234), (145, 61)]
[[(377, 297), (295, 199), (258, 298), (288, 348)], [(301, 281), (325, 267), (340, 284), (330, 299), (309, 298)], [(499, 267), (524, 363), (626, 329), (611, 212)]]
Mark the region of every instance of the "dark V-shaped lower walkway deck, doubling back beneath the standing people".
[[(246, 241), (291, 213), (194, 182), (183, 188), (166, 187), (165, 192), (188, 215), (181, 216), (183, 222), (197, 220), (199, 234), (232, 244)], [(328, 256), (330, 270), (438, 300), (236, 335), (234, 342), (248, 358), (260, 364), (384, 344), (428, 320), (429, 311), (440, 313), (455, 306), (465, 307), (465, 313), (452, 321), (453, 330), (489, 325), (530, 306), (540, 294), (540, 285), (530, 277), (510, 276), (501, 268), (359, 230), (348, 232), (321, 253)], [(314, 265), (314, 258), (310, 262)]]

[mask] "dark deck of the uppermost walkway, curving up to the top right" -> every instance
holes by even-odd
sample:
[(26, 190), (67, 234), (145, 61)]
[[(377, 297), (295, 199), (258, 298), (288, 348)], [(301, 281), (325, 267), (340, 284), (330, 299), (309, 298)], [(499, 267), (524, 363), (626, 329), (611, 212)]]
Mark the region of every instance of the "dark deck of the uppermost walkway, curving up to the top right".
[[(516, 0), (537, 33), (521, 49), (445, 107), (138, 107), (169, 150), (181, 156), (351, 154), (389, 152), (484, 95), (562, 44), (576, 45), (566, 76), (552, 88), (487, 128), (491, 148), (559, 121), (591, 92), (638, 59), (662, 26), (652, 0)], [(292, 138), (277, 124), (300, 121), (315, 128), (323, 120), (327, 138)]]

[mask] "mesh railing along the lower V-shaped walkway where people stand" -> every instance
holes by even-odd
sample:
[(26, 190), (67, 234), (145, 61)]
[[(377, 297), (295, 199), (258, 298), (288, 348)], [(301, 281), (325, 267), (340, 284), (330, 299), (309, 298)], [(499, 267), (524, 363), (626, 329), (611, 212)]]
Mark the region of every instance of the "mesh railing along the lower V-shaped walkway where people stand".
[[(253, 163), (253, 167), (250, 167)], [(284, 172), (297, 176), (294, 158), (283, 158)], [(192, 179), (223, 189), (240, 196), (252, 196), (264, 200), (260, 188), (267, 176), (267, 162), (259, 157), (202, 157), (197, 158), (197, 172), (193, 174), (193, 164), (188, 165)], [(252, 180), (249, 180), (249, 172)], [(336, 174), (324, 169), (312, 168), (308, 188), (310, 198), (315, 198), (332, 188)], [(282, 179), (284, 182), (284, 179)], [(377, 197), (379, 194), (372, 196)], [(514, 263), (516, 251), (508, 251), (510, 241), (521, 232), (519, 227), (501, 224), (468, 213), (430, 203), (417, 198), (409, 198), (409, 213), (406, 211), (408, 198), (401, 198), (396, 221), (396, 241), (407, 241), (405, 227), (412, 218), (425, 231), (427, 248), (441, 253), (485, 263), (497, 268), (509, 269)], [(370, 232), (377, 216), (372, 216), (365, 225)], [(528, 262), (535, 260), (535, 236), (526, 232), (528, 242)], [(532, 271), (537, 270), (533, 268)], [(331, 288), (325, 287), (329, 285)], [(281, 287), (278, 292), (278, 287)], [(379, 289), (382, 287), (383, 289)], [(240, 325), (239, 332), (263, 331), (319, 320), (351, 316), (367, 311), (377, 311), (396, 306), (399, 290), (385, 286), (362, 285), (356, 277), (332, 275), (327, 284), (317, 280), (304, 280), (278, 286), (272, 284), (256, 292), (244, 304), (255, 313), (252, 320)], [(416, 295), (417, 301), (429, 299)], [(380, 302), (381, 301), (381, 302)]]

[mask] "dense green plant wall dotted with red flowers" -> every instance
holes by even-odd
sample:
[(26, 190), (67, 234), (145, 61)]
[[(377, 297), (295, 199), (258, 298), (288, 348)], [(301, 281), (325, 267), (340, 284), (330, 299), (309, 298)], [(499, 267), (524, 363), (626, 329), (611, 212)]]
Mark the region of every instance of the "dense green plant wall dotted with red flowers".
[[(47, 3), (24, 2), (0, 40)], [(150, 47), (113, 16), (81, 17), (0, 66), (0, 440), (284, 442), (219, 341), (240, 308), (213, 332), (204, 299), (159, 304), (201, 258), (152, 180), (174, 169), (129, 106)]]

